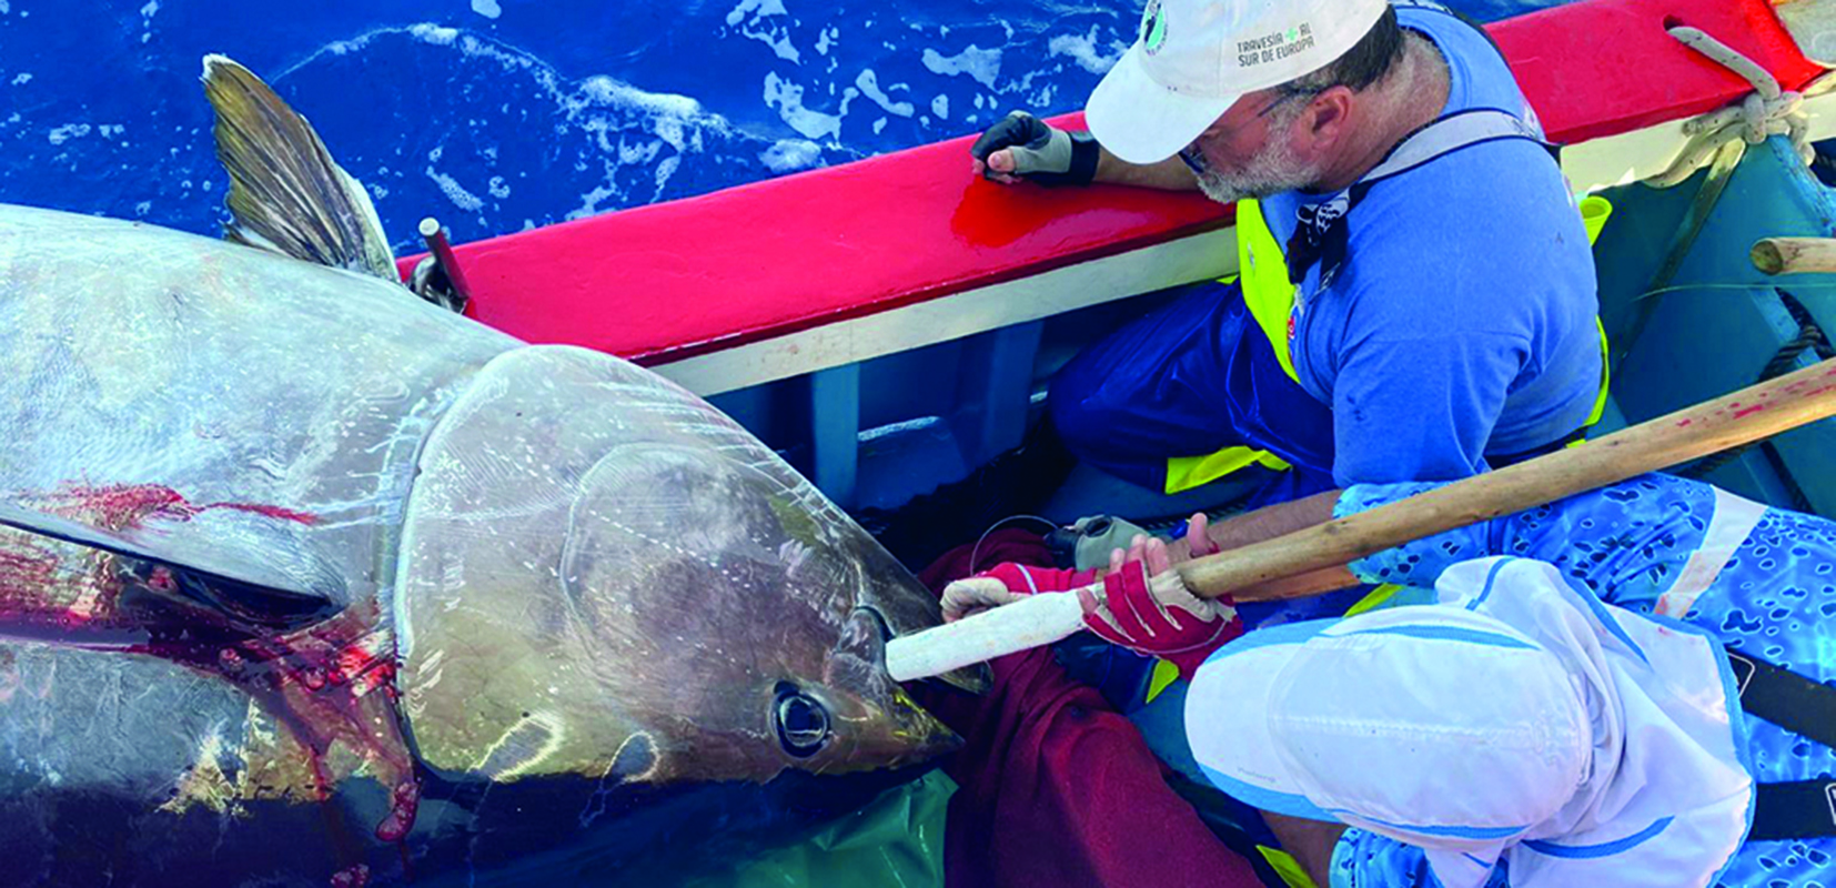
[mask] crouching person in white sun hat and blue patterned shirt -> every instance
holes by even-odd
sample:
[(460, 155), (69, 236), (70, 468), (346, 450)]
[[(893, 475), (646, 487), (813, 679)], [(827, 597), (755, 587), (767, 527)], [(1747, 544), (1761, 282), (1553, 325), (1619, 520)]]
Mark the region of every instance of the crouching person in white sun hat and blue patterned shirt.
[[(1188, 536), (1245, 545), (1434, 486)], [(1337, 571), (1410, 604), (1241, 637), (1164, 572), (1184, 549), (1138, 547), (1087, 622), (1182, 666), (1204, 776), (1320, 884), (1836, 884), (1836, 521), (1643, 475)], [(975, 589), (958, 607), (1001, 604)]]

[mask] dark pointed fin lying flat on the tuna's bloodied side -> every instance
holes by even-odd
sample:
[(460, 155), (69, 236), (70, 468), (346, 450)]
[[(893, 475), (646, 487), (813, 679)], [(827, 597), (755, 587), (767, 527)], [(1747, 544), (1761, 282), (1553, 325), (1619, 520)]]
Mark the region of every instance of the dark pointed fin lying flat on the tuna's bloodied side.
[(147, 569), (163, 569), (171, 580), (167, 583), (171, 594), (233, 613), (242, 620), (274, 626), (310, 624), (341, 607), (341, 589), (308, 589), (286, 574), (252, 563), (230, 565), (211, 552), (167, 552), (171, 545), (141, 545), (123, 534), (11, 503), (0, 503), (0, 527), (114, 552), (141, 561)]

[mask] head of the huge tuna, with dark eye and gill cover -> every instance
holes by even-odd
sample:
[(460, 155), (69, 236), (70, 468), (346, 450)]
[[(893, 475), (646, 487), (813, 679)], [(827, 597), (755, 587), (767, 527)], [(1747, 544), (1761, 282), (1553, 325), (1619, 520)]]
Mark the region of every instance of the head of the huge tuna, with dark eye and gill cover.
[(742, 427), (604, 354), (479, 372), (422, 450), (397, 585), (435, 769), (766, 782), (955, 745), (885, 673), (872, 604), (924, 589)]

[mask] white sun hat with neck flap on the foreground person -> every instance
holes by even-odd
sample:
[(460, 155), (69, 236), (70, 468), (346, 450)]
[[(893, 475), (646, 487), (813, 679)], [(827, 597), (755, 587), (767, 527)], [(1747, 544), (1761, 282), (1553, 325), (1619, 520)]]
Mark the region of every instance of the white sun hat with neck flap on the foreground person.
[(1212, 782), (1421, 848), (1447, 888), (1706, 886), (1746, 840), (1733, 677), (1696, 627), (1544, 561), (1445, 571), (1439, 604), (1252, 631), (1186, 694)]

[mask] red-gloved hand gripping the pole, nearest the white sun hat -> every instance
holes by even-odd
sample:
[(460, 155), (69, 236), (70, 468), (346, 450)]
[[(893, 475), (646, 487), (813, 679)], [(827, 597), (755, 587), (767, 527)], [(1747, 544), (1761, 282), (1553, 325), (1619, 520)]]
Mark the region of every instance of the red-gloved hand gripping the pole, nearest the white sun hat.
[(1083, 624), (1111, 644), (1160, 657), (1190, 681), (1212, 651), (1243, 635), (1236, 607), (1186, 589), (1164, 541), (1138, 536), (1125, 554), (1111, 554), (1109, 565), (1103, 600), (1085, 589), (1078, 600)]

